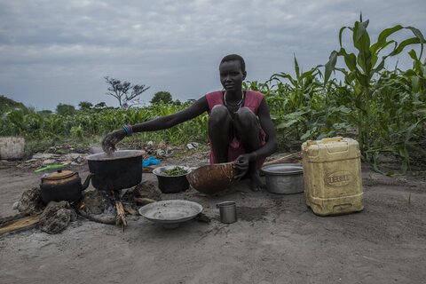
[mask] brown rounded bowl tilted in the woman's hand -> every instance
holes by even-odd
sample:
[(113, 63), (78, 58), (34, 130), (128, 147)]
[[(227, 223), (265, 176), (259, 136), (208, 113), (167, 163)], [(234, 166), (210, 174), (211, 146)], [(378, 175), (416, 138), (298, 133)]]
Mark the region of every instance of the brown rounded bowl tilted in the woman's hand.
[(189, 184), (200, 193), (214, 194), (233, 183), (237, 170), (233, 162), (216, 163), (192, 170), (186, 177)]

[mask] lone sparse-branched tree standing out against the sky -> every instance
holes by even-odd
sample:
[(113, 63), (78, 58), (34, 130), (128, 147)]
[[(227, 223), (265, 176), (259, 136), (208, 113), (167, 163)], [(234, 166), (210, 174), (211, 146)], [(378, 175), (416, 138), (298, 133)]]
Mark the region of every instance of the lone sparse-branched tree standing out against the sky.
[(148, 90), (151, 87), (146, 87), (145, 84), (133, 85), (127, 81), (120, 81), (108, 76), (104, 77), (106, 83), (109, 84), (108, 92), (106, 95), (113, 96), (115, 99), (118, 99), (118, 104), (122, 106), (124, 102), (138, 98), (141, 93)]

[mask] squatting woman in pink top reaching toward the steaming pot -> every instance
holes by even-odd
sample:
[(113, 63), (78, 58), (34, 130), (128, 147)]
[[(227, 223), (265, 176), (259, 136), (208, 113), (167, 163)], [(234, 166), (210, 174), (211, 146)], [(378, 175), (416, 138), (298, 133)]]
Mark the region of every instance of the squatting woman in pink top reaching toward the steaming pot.
[(114, 151), (115, 144), (133, 132), (168, 129), (208, 112), (210, 163), (235, 161), (238, 170), (235, 178), (249, 177), (250, 189), (259, 191), (263, 187), (259, 169), (264, 158), (278, 146), (269, 108), (264, 94), (242, 91), (247, 72), (240, 55), (225, 56), (219, 65), (219, 74), (224, 91), (209, 92), (176, 114), (126, 125), (106, 135), (102, 141), (104, 151)]

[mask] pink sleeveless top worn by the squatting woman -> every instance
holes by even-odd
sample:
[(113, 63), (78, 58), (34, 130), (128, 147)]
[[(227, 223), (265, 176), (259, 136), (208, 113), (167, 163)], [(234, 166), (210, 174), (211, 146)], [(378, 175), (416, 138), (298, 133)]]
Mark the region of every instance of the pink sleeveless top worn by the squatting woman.
[[(222, 91), (212, 91), (206, 95), (206, 99), (209, 104), (209, 110), (208, 110), (209, 114), (213, 106), (225, 105), (223, 98), (224, 96)], [(262, 99), (264, 99), (264, 94), (258, 91), (246, 91), (244, 106), (248, 107), (253, 112), (253, 114), (257, 115), (257, 111), (259, 109), (260, 103), (262, 102)], [(260, 138), (262, 146), (264, 146), (264, 143), (266, 143), (265, 137), (266, 137), (266, 134), (264, 133), (264, 130), (260, 128), (259, 138)], [(244, 147), (242, 146), (241, 142), (236, 137), (234, 137), (228, 146), (228, 162), (233, 162), (235, 161), (235, 159), (238, 158), (239, 155), (246, 154), (246, 153), (247, 152), (244, 150)], [(212, 163), (217, 163), (217, 159), (210, 147), (210, 164)], [(264, 163), (264, 159), (259, 159), (257, 161), (257, 165), (259, 167), (263, 163)]]

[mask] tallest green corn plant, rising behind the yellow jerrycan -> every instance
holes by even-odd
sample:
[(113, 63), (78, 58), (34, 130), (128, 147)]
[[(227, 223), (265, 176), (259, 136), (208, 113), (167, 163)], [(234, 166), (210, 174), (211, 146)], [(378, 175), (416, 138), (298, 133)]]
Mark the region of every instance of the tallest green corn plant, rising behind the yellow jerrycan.
[[(372, 161), (371, 155), (371, 125), (375, 121), (375, 98), (380, 95), (375, 79), (383, 71), (385, 60), (391, 56), (398, 55), (410, 44), (419, 44), (421, 56), (423, 50), (424, 37), (417, 28), (402, 27), (400, 25), (384, 29), (375, 43), (370, 43), (370, 36), (367, 33), (369, 21), (356, 21), (353, 27), (343, 27), (339, 32), (340, 50), (332, 51), (327, 64), (325, 65), (325, 83), (335, 70), (341, 71), (344, 75), (344, 82), (351, 87), (351, 103), (356, 106), (356, 126), (358, 128), (358, 140), (361, 154), (368, 162)], [(347, 52), (343, 48), (343, 31), (349, 29), (352, 33), (352, 43), (357, 54)], [(395, 40), (388, 39), (399, 30), (407, 29), (413, 33), (413, 37), (407, 38), (398, 43)], [(384, 49), (393, 45), (393, 49), (386, 55), (382, 55)], [(335, 67), (337, 58), (343, 57), (344, 64), (347, 67)]]

